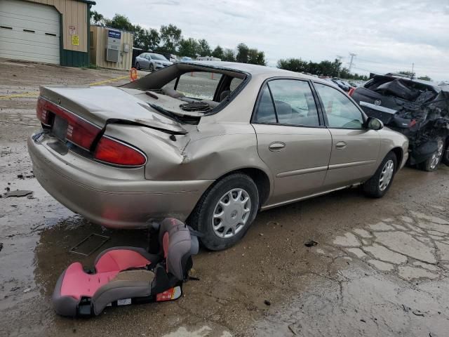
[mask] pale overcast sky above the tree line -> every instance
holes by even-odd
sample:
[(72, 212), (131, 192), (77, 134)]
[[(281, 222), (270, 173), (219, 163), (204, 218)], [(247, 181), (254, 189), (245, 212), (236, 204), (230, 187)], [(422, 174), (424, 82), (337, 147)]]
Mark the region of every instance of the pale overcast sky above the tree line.
[(412, 70), (449, 80), (449, 0), (96, 0), (93, 10), (184, 37), (235, 48), (243, 42), (279, 58), (333, 60), (356, 53), (353, 72)]

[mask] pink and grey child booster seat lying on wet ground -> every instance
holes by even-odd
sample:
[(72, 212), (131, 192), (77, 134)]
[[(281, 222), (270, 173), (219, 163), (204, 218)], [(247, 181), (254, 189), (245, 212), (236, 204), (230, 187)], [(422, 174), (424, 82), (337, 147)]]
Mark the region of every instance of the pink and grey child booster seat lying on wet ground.
[(166, 218), (159, 226), (159, 253), (137, 247), (114, 247), (95, 258), (94, 269), (79, 262), (62, 272), (53, 291), (59, 315), (99, 315), (107, 306), (175, 300), (189, 278), (192, 255), (199, 245), (180, 220)]

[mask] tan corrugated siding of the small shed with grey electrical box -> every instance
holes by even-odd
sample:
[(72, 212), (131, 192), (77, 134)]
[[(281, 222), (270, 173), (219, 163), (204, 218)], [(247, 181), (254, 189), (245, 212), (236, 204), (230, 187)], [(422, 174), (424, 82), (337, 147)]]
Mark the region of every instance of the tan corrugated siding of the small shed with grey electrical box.
[[(91, 63), (102, 68), (130, 70), (133, 66), (133, 42), (134, 34), (130, 32), (121, 31), (121, 45), (119, 62), (108, 62), (106, 60), (106, 46), (107, 46), (107, 30), (110, 28), (91, 26), (93, 32), (93, 41), (91, 43)], [(117, 30), (117, 29), (113, 29)], [(124, 45), (129, 45), (129, 52), (123, 51)]]

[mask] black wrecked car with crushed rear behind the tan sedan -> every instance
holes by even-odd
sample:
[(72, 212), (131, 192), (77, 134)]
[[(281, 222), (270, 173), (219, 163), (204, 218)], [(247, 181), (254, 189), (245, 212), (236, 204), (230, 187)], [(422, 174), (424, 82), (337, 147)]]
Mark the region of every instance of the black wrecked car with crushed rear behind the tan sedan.
[(430, 81), (373, 75), (349, 93), (369, 117), (408, 137), (409, 162), (434, 171), (449, 165), (449, 86)]

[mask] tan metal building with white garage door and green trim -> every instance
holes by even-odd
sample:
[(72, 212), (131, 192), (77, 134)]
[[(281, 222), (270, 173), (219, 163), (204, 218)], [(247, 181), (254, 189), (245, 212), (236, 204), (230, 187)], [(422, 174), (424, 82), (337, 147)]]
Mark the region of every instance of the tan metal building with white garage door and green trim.
[(89, 65), (88, 0), (0, 0), (0, 58)]

